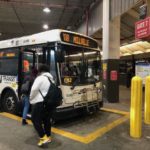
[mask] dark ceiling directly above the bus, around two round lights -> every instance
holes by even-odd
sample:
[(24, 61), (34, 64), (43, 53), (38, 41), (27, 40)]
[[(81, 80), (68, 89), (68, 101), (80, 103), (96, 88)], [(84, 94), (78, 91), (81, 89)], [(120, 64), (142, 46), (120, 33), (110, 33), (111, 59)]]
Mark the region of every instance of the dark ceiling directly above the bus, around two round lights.
[[(85, 21), (86, 11), (101, 0), (0, 0), (0, 40), (49, 29), (75, 30)], [(51, 12), (44, 13), (49, 7)]]

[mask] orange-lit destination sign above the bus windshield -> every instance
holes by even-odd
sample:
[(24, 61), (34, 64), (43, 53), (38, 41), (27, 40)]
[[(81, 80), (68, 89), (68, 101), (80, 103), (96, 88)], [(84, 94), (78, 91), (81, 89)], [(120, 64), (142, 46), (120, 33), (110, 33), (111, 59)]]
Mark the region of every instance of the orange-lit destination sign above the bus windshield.
[(97, 48), (97, 43), (87, 37), (76, 35), (73, 33), (61, 32), (61, 40), (66, 43), (85, 46), (89, 48)]

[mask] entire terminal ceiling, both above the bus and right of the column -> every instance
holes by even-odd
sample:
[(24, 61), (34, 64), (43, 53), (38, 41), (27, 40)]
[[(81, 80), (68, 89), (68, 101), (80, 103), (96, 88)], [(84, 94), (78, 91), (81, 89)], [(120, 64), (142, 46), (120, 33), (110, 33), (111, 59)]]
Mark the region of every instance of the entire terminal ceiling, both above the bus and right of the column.
[[(0, 0), (0, 40), (41, 32), (45, 23), (49, 25), (49, 29), (75, 30), (86, 20), (88, 8), (99, 1), (101, 0)], [(120, 42), (121, 45), (130, 44), (121, 48), (121, 55), (141, 53), (150, 49), (148, 42), (140, 42), (136, 47), (135, 44), (131, 46), (131, 42), (135, 41), (134, 24), (139, 20), (139, 7), (142, 3), (143, 1), (139, 0), (121, 16)], [(51, 9), (49, 14), (43, 12), (46, 6)], [(102, 30), (93, 37), (102, 47)]]

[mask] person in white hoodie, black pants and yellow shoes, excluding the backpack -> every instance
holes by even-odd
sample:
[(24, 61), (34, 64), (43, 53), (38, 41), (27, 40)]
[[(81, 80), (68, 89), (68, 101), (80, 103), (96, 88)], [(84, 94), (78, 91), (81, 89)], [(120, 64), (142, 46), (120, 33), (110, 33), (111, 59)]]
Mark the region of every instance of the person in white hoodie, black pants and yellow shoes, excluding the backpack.
[[(54, 107), (46, 107), (44, 105), (45, 96), (50, 87), (49, 79), (54, 83), (52, 75), (49, 73), (47, 65), (39, 67), (39, 76), (35, 79), (30, 93), (30, 104), (32, 104), (32, 122), (36, 129), (40, 140), (38, 146), (51, 142), (51, 118), (55, 111)], [(42, 95), (41, 95), (41, 93)]]

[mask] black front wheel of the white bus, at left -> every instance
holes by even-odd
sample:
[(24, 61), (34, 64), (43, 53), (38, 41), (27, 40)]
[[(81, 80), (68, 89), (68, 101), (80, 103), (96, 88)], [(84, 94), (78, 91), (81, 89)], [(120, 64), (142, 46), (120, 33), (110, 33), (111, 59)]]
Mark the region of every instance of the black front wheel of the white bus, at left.
[(17, 112), (17, 98), (11, 91), (6, 92), (3, 96), (2, 107), (5, 112), (15, 114)]

